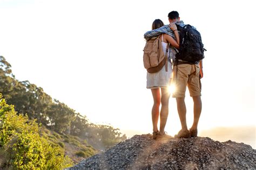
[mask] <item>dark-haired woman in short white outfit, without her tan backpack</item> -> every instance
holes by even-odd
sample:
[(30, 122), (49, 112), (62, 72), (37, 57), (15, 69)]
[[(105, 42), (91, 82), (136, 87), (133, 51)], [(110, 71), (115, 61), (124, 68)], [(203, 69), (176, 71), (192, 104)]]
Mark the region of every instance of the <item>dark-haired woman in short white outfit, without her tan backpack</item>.
[[(156, 19), (152, 24), (152, 30), (158, 29), (161, 26), (164, 26), (164, 23), (160, 19)], [(167, 43), (171, 46), (179, 48), (179, 34), (177, 31), (177, 26), (175, 24), (170, 24), (171, 30), (174, 32), (174, 35), (177, 39), (173, 39), (171, 36), (167, 34), (160, 35), (161, 45), (163, 47), (164, 53), (166, 53)], [(165, 66), (156, 73), (147, 72), (147, 89), (151, 89), (154, 104), (152, 107), (152, 123), (153, 123), (153, 138), (156, 139), (158, 137), (169, 137), (165, 131), (165, 124), (167, 121), (168, 113), (169, 113), (169, 85), (172, 74), (172, 64), (170, 60), (170, 56), (168, 54), (168, 71), (165, 71)], [(158, 131), (158, 118), (159, 118), (159, 106), (161, 104), (160, 110), (160, 129)]]

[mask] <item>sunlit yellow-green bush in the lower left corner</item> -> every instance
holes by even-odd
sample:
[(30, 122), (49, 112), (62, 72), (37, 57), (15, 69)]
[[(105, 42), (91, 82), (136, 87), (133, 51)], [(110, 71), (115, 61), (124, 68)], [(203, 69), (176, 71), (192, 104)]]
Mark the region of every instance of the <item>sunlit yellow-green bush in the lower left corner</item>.
[(0, 94), (0, 151), (5, 155), (0, 169), (62, 169), (72, 165), (60, 147), (52, 147), (40, 137), (36, 120), (16, 113), (14, 105), (6, 104)]

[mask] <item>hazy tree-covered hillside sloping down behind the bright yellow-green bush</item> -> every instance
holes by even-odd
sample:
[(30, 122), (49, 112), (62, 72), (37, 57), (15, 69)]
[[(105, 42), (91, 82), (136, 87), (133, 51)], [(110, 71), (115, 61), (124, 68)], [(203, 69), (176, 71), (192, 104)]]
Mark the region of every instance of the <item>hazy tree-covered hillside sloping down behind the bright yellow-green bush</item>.
[[(83, 158), (96, 154), (100, 149), (110, 148), (126, 139), (125, 134), (120, 133), (118, 128), (110, 125), (93, 124), (86, 115), (76, 112), (57, 99), (53, 99), (44, 92), (42, 87), (38, 87), (28, 80), (17, 80), (12, 73), (11, 64), (3, 56), (0, 56), (0, 94), (2, 94), (6, 104), (14, 107), (12, 112), (17, 112), (17, 115), (21, 115), (22, 119), (33, 122), (33, 126), (38, 128), (40, 132), (38, 134), (43, 137), (43, 140), (46, 140), (45, 144), (48, 145), (49, 143), (53, 149), (58, 149), (63, 157), (67, 155), (71, 158), (75, 164)], [(8, 112), (3, 113), (9, 115)], [(8, 122), (8, 120), (3, 121), (2, 119), (4, 120), (4, 118), (0, 118), (0, 129)], [(15, 130), (18, 131), (22, 126), (30, 127), (24, 120), (15, 126)], [(10, 131), (8, 135), (15, 138), (16, 136), (12, 133)], [(4, 137), (5, 133), (2, 135)], [(35, 138), (31, 140), (35, 140)], [(4, 142), (4, 144), (9, 145), (8, 142)], [(28, 145), (31, 144), (28, 143)], [(4, 145), (0, 144), (0, 156), (6, 154), (10, 154), (10, 152)], [(2, 158), (0, 157), (0, 168), (2, 166), (8, 167), (9, 163), (6, 163), (5, 158), (11, 160), (11, 157), (2, 156)], [(32, 160), (34, 159), (28, 162), (32, 162)]]

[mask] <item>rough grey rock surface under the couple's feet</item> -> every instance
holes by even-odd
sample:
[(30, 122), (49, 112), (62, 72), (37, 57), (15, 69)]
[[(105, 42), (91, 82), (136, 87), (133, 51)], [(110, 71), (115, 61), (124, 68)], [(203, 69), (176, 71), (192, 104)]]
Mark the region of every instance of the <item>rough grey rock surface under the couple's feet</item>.
[(256, 169), (250, 145), (210, 138), (154, 140), (151, 134), (131, 139), (82, 160), (68, 169)]

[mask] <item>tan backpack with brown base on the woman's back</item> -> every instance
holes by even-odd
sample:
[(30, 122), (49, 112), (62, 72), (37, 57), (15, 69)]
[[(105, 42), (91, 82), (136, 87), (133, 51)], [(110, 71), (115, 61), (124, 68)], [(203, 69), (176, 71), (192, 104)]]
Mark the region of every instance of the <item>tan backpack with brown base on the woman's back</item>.
[(169, 50), (169, 44), (167, 44), (166, 55), (164, 55), (160, 36), (153, 37), (147, 40), (143, 50), (144, 51), (143, 63), (144, 63), (145, 69), (147, 69), (147, 72), (149, 73), (158, 72), (163, 68), (164, 65), (165, 65), (165, 71), (168, 71), (168, 67), (167, 67), (168, 50)]

